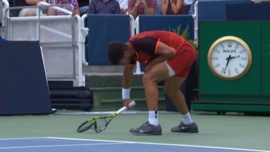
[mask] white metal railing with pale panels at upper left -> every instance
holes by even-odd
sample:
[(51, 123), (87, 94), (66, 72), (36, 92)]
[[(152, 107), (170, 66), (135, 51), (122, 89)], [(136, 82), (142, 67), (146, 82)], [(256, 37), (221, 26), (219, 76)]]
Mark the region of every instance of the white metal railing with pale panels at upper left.
[[(67, 15), (42, 15), (42, 10), (49, 7)], [(84, 42), (88, 28), (84, 28), (82, 18), (73, 15), (69, 10), (45, 2), (40, 2), (38, 6), (31, 6), (31, 8), (37, 9), (36, 16), (10, 17), (10, 10), (16, 7), (5, 8), (4, 15), (7, 21), (5, 38), (17, 41), (38, 40), (42, 47), (48, 80), (73, 81), (73, 86), (85, 86), (82, 65), (85, 61)]]

